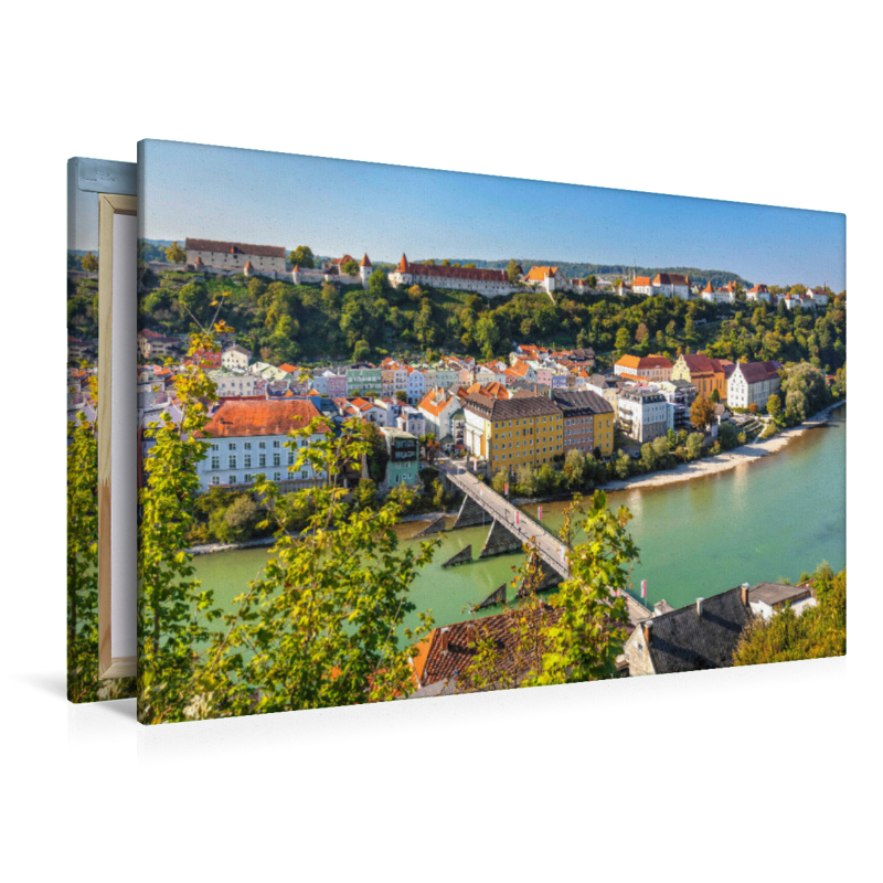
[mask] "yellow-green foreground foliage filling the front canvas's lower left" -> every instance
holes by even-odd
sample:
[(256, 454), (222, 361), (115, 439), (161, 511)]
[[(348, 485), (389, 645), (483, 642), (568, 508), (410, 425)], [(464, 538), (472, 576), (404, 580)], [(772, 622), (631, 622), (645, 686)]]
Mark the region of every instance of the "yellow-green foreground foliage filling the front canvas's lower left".
[[(223, 330), (220, 326), (216, 329)], [(191, 338), (191, 354), (214, 347)], [(205, 456), (206, 403), (214, 390), (190, 365), (178, 380), (183, 421), (153, 425), (141, 492), (139, 549), (139, 720), (168, 723), (255, 712), (373, 702), (414, 689), (413, 643), (432, 626), (403, 628), (417, 572), (438, 542), (400, 549), (403, 493), (380, 508), (352, 499), (345, 476), (373, 449), (371, 428), (344, 425), (305, 445), (321, 418), (295, 427), (295, 469), (311, 466), (321, 487), (281, 494), (263, 477), (256, 492), (277, 529), (270, 558), (223, 615), (184, 552)], [(358, 469), (355, 469), (358, 474)], [(243, 518), (252, 518), (251, 510)], [(223, 625), (222, 625), (223, 623)], [(219, 628), (219, 626), (221, 626)]]

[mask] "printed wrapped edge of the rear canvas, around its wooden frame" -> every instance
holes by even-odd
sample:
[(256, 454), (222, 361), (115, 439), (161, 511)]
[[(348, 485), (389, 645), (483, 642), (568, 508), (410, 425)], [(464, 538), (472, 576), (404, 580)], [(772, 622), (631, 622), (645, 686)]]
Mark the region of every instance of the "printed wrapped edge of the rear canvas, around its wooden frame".
[(98, 204), (134, 195), (135, 164), (67, 163), (67, 698), (135, 695), (135, 678), (99, 678), (98, 630)]

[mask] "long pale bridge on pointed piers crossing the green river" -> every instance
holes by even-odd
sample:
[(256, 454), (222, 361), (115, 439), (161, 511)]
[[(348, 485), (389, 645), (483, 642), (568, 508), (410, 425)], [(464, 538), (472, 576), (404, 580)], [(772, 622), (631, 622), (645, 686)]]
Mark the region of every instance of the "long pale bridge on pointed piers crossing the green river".
[[(488, 539), (479, 557), (515, 552), (526, 546), (535, 551), (543, 562), (546, 571), (546, 579), (541, 584), (543, 587), (571, 578), (567, 562), (570, 550), (565, 543), (464, 466), (449, 460), (442, 460), (439, 466), (448, 481), (462, 491), (465, 498), (454, 529), (474, 528), (490, 521)], [(471, 549), (468, 554), (471, 556)], [(451, 563), (458, 562), (451, 560)], [(625, 593), (625, 598), (632, 625), (653, 615), (652, 610), (628, 593)]]

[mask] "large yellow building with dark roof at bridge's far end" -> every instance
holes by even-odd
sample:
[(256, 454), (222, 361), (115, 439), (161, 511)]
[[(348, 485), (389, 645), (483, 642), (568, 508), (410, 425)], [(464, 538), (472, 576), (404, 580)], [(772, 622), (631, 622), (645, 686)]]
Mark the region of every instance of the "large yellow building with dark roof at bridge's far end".
[(462, 409), (466, 448), (486, 459), (491, 472), (536, 468), (564, 454), (562, 411), (544, 395), (499, 400), (472, 394)]

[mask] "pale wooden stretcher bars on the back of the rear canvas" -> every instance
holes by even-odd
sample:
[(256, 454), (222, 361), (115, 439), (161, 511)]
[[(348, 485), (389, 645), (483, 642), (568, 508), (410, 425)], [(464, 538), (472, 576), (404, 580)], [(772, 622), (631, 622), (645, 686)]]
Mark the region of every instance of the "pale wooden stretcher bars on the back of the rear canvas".
[[(136, 657), (113, 656), (110, 476), (113, 443), (113, 341), (114, 341), (114, 216), (137, 214), (135, 196), (98, 195), (98, 677), (129, 678), (136, 673)], [(135, 339), (131, 340), (132, 352)], [(132, 359), (132, 369), (135, 360)], [(128, 382), (135, 395), (134, 373), (116, 381)], [(135, 585), (135, 574), (132, 574)]]

